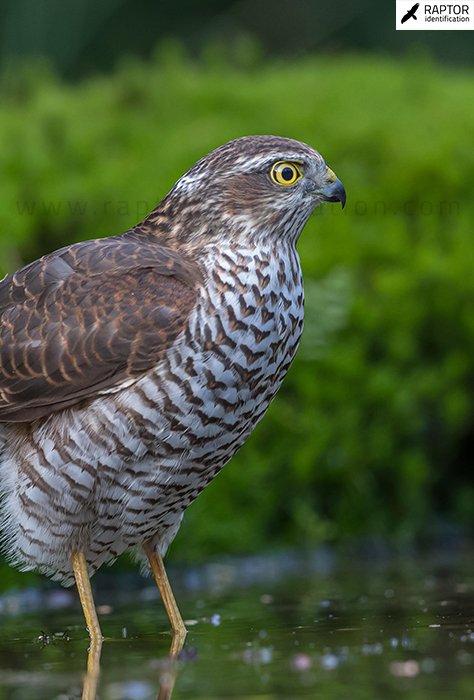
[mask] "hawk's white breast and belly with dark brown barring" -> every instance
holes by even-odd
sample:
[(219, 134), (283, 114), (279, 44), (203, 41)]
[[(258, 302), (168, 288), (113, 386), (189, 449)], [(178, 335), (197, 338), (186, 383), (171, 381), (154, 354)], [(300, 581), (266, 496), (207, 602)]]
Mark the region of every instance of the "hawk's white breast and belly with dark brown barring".
[(31, 424), (1, 428), (1, 517), (14, 563), (73, 583), (154, 538), (162, 553), (184, 510), (263, 417), (296, 353), (303, 286), (293, 245), (222, 246), (184, 332), (138, 380)]

